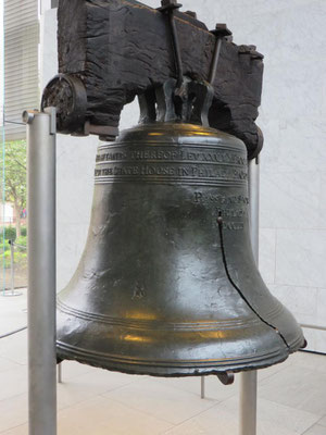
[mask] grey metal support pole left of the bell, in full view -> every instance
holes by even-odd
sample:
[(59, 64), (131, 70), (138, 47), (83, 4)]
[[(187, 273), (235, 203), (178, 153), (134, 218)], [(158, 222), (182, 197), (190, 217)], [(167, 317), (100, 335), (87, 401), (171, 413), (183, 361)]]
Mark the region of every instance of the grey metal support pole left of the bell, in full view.
[(28, 433), (55, 435), (55, 110), (24, 112), (23, 120), (28, 144)]

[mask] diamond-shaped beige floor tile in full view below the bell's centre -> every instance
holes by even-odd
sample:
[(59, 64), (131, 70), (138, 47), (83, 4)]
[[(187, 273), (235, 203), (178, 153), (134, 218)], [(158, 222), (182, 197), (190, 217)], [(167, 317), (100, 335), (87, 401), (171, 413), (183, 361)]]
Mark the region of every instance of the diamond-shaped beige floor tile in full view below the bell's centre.
[(150, 377), (105, 394), (105, 397), (172, 424), (179, 424), (215, 405), (212, 399), (202, 400), (198, 394), (172, 387), (168, 383), (164, 385)]

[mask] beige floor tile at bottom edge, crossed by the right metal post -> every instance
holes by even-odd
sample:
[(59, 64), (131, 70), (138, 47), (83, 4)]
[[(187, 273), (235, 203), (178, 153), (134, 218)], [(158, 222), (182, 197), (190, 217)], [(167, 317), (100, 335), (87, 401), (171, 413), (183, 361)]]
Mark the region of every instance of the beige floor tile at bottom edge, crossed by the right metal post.
[[(170, 430), (166, 435), (238, 435), (238, 412), (226, 411), (217, 405), (208, 411), (186, 421)], [(283, 427), (280, 424), (271, 424), (269, 421), (260, 420), (259, 435), (298, 435), (298, 433)]]

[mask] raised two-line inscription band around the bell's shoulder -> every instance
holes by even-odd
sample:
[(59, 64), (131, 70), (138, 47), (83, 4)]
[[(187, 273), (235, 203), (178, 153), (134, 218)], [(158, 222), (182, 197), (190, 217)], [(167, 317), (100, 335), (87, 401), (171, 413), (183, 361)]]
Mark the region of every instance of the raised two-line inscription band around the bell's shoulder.
[(196, 184), (240, 183), (247, 179), (247, 159), (243, 152), (216, 147), (183, 145), (166, 147), (136, 146), (136, 148), (101, 147), (95, 173), (97, 183), (121, 182), (137, 178), (138, 182), (168, 182)]

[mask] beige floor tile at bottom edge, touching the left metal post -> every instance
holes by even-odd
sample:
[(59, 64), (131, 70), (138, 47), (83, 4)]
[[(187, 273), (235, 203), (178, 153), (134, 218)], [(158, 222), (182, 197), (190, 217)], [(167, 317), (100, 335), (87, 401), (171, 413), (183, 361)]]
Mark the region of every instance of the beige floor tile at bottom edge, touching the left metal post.
[(155, 435), (172, 425), (104, 397), (59, 412), (60, 435)]

